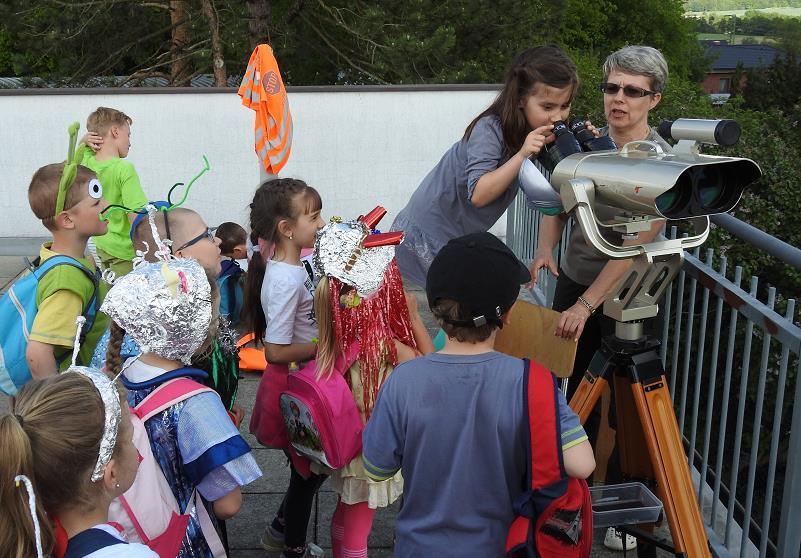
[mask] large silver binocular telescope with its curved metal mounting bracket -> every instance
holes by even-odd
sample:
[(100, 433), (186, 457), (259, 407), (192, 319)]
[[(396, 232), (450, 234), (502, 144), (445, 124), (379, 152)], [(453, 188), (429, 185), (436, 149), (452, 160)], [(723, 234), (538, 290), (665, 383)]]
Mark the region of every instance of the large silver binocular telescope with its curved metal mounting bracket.
[[(620, 151), (584, 151), (564, 157), (554, 167), (550, 184), (531, 161), (525, 161), (519, 173), (530, 205), (551, 215), (554, 207), (572, 213), (587, 240), (603, 254), (620, 259), (647, 256), (642, 269), (632, 271), (637, 283), (631, 283), (631, 276), (624, 277), (619, 292), (604, 305), (604, 312), (619, 322), (656, 315), (656, 300), (680, 267), (683, 250), (699, 246), (709, 235), (708, 216), (732, 210), (745, 188), (762, 174), (750, 159), (699, 153), (699, 143), (736, 143), (740, 126), (733, 120), (678, 119), (663, 123), (659, 130), (663, 137), (677, 140), (672, 151), (651, 141), (634, 141)], [(613, 208), (614, 218), (601, 221), (597, 205)], [(690, 218), (700, 218), (700, 223), (694, 223), (694, 236), (648, 245), (616, 246), (600, 232), (609, 227), (624, 238), (636, 239), (656, 219)], [(671, 269), (654, 265), (671, 254), (677, 256), (665, 258), (670, 259)], [(649, 283), (657, 278), (658, 284)], [(644, 292), (635, 293), (640, 289)]]

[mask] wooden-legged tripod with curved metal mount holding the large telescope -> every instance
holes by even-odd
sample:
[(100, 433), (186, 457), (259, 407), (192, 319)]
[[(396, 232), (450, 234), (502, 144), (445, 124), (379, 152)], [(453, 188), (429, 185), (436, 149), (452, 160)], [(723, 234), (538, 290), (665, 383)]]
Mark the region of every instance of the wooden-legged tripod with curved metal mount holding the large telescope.
[(604, 314), (616, 322), (615, 334), (604, 339), (570, 407), (584, 423), (604, 387), (613, 384), (622, 472), (629, 478), (655, 481), (673, 538), (672, 548), (667, 549), (678, 556), (711, 556), (659, 358), (660, 343), (646, 335), (643, 327), (643, 320), (656, 316), (657, 301), (681, 268), (684, 250), (706, 240), (709, 218), (699, 218), (703, 231), (696, 236), (616, 246), (601, 235), (599, 226), (615, 228), (624, 238), (636, 238), (637, 233), (650, 229), (654, 218), (623, 213), (613, 223), (599, 224), (593, 211), (594, 192), (590, 179), (564, 183), (561, 197), (565, 211), (574, 212), (585, 237), (597, 250), (614, 259), (632, 258), (633, 264), (604, 302)]

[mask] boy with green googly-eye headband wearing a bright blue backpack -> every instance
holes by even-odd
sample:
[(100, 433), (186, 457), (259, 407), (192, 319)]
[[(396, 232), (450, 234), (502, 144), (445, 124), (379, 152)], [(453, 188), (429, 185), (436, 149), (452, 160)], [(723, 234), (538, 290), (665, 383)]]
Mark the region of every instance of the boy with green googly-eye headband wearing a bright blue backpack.
[(89, 362), (106, 328), (97, 312), (106, 291), (94, 264), (84, 257), (90, 237), (103, 234), (100, 219), (108, 205), (94, 172), (77, 164), (77, 122), (70, 126), (67, 161), (45, 165), (28, 188), (31, 210), (53, 240), (42, 245), (37, 267), (17, 280), (0, 300), (0, 390), (15, 395), (31, 377), (66, 369), (75, 339), (75, 320), (83, 315), (78, 363)]

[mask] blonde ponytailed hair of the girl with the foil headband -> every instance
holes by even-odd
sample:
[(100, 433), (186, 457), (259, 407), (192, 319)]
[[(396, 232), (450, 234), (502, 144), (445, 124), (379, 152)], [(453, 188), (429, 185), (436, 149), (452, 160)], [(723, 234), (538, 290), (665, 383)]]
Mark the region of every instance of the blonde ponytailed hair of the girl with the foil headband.
[[(125, 395), (120, 395), (125, 400)], [(36, 493), (45, 555), (53, 548), (47, 512), (91, 509), (103, 483), (91, 482), (100, 451), (105, 408), (91, 380), (66, 372), (26, 384), (13, 414), (0, 416), (0, 549), (3, 556), (36, 556), (28, 496), (14, 477), (26, 475)], [(117, 448), (120, 438), (117, 438)], [(117, 452), (115, 448), (115, 454)]]

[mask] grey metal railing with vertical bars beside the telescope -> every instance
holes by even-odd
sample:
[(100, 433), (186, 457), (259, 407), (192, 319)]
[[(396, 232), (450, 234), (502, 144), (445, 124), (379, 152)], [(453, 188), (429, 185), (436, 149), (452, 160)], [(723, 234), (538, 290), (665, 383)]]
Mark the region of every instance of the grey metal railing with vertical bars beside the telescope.
[[(526, 263), (536, 249), (539, 220), (522, 195), (507, 213), (506, 241)], [(798, 248), (729, 215), (713, 221), (755, 250), (801, 269)], [(675, 237), (676, 229), (670, 234)], [(732, 556), (796, 557), (801, 328), (794, 299), (770, 287), (760, 300), (759, 278), (752, 276), (746, 290), (742, 275), (742, 268), (711, 249), (703, 259), (699, 249), (686, 253), (660, 303), (660, 354), (710, 538)], [(550, 306), (554, 286), (555, 279), (541, 272), (534, 299)]]

